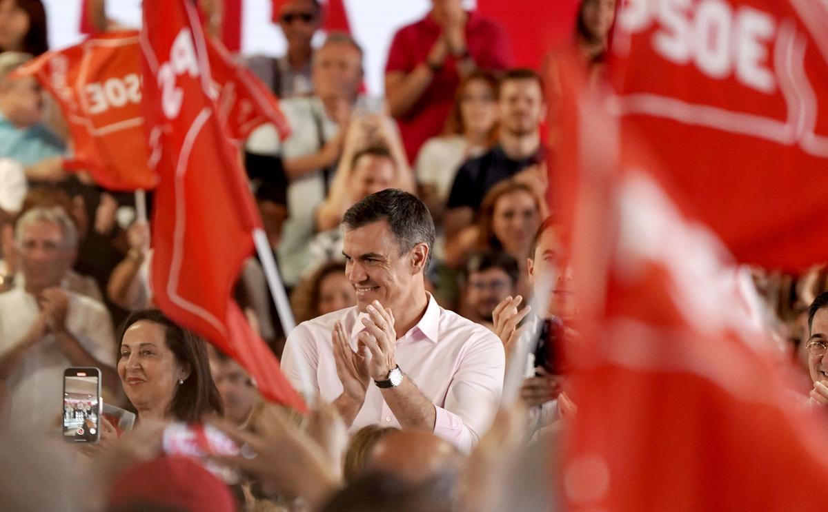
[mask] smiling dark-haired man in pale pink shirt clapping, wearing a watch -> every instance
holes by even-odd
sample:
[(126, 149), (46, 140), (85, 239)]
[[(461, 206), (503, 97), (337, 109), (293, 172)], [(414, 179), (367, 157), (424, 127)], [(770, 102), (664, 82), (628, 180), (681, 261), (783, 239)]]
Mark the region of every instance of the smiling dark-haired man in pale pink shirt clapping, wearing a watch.
[(282, 371), (335, 404), (352, 431), (427, 430), (468, 451), (500, 400), (503, 343), (426, 292), (431, 213), (412, 194), (386, 189), (354, 204), (342, 224), (357, 305), (298, 325)]

